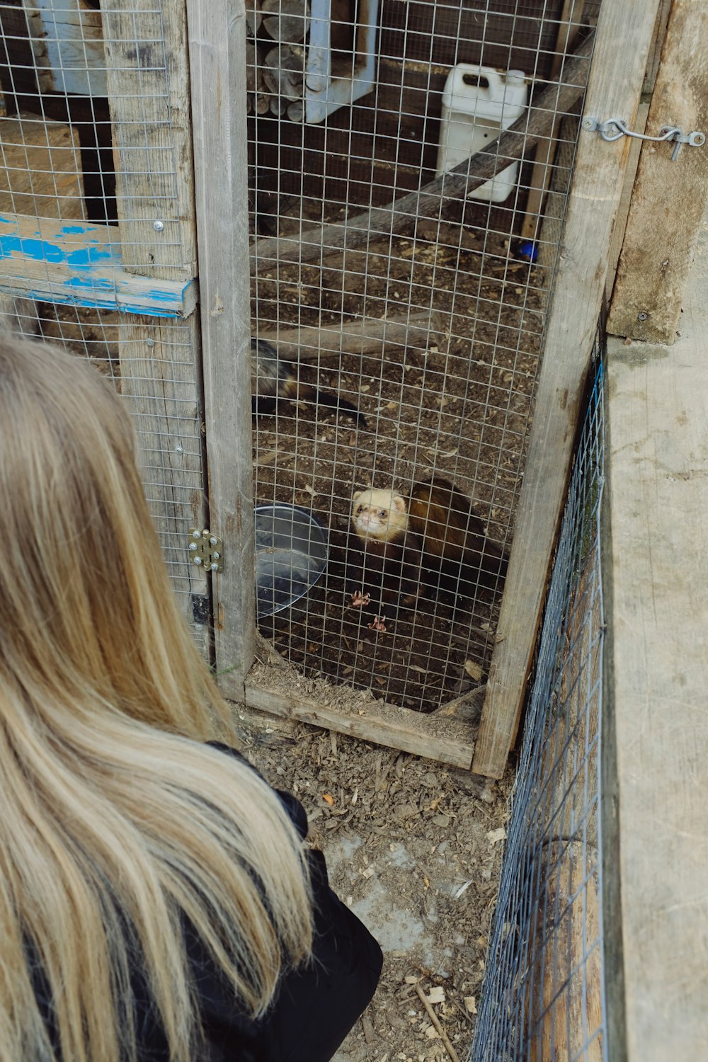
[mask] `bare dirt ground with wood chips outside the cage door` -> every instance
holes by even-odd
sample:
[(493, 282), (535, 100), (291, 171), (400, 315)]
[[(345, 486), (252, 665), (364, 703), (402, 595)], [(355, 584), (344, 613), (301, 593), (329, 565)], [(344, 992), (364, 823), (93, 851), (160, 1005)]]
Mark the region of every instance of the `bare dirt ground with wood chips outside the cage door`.
[(244, 752), (296, 793), (332, 887), (384, 953), (374, 1000), (336, 1062), (460, 1062), (474, 1029), (512, 772), (498, 783), (333, 732), (240, 719)]

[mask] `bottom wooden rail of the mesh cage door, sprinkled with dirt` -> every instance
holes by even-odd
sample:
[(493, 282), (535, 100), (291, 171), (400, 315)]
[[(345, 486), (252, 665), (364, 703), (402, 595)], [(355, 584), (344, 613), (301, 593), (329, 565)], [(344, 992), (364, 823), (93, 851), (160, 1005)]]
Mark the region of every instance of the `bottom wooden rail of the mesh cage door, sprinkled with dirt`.
[[(195, 0), (198, 2), (198, 0)], [(248, 707), (274, 716), (298, 719), (300, 722), (325, 726), (338, 734), (349, 734), (362, 741), (374, 741), (391, 749), (400, 749), (414, 756), (425, 756), (453, 767), (469, 769), (473, 744), (470, 727), (454, 719), (425, 716), (394, 704), (366, 703), (356, 712), (330, 708), (316, 701), (293, 696), (282, 697), (246, 683), (245, 702)]]

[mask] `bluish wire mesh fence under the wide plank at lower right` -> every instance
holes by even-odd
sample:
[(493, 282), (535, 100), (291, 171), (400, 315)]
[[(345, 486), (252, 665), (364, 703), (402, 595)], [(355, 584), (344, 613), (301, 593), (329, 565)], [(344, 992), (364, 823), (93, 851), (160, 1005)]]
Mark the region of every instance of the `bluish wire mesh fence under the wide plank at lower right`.
[(600, 757), (603, 367), (575, 459), (469, 1062), (606, 1060)]

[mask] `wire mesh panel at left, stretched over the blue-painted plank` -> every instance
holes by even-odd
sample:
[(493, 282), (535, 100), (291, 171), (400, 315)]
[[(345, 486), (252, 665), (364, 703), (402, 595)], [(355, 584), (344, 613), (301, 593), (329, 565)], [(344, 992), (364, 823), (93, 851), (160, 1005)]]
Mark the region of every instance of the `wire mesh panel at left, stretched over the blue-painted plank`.
[(0, 4), (0, 314), (87, 358), (128, 404), (191, 618), (204, 583), (188, 529), (205, 477), (179, 6)]

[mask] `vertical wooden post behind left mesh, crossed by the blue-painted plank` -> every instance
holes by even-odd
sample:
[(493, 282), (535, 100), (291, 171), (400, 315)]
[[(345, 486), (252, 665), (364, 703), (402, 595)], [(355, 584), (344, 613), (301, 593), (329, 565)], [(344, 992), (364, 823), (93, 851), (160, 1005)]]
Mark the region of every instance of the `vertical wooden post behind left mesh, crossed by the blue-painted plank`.
[[(188, 282), (196, 235), (185, 0), (133, 0), (129, 8), (122, 0), (101, 3), (117, 242), (127, 272)], [(175, 321), (131, 314), (119, 333), (121, 392), (139, 431), (148, 500), (206, 653), (208, 584), (188, 552), (190, 527), (206, 523), (198, 313)]]

